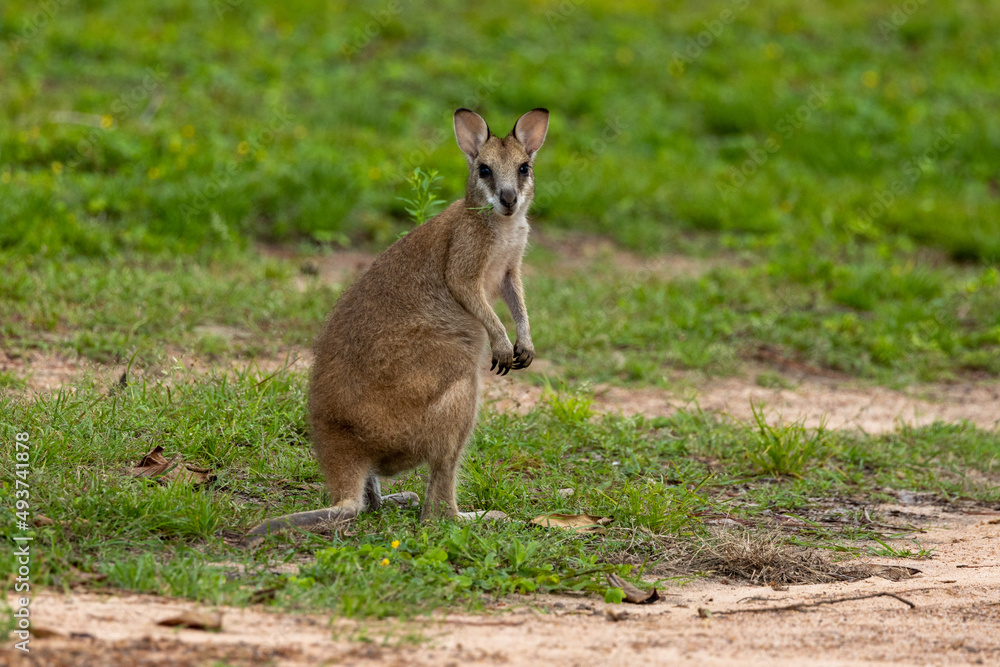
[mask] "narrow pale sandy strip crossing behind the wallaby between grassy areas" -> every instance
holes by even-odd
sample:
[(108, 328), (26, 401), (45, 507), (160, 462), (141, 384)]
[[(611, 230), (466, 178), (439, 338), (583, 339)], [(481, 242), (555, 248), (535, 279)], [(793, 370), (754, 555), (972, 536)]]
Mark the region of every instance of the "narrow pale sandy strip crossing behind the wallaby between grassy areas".
[[(191, 353), (168, 355), (170, 361), (155, 368), (133, 369), (130, 381), (145, 376), (155, 382), (176, 382), (195, 374), (228, 373), (250, 370), (261, 374), (290, 369), (307, 372), (312, 353), (306, 348), (290, 348), (275, 357), (254, 359), (209, 360)], [(552, 372), (544, 359), (532, 365), (533, 371)], [(751, 376), (769, 370), (752, 366)], [(64, 355), (30, 351), (11, 358), (0, 350), (0, 372), (13, 371), (23, 378), (25, 388), (8, 389), (17, 393), (44, 393), (72, 386), (92, 377), (99, 384), (113, 386), (125, 371), (124, 365), (103, 365)], [(775, 373), (772, 373), (775, 374)], [(675, 390), (658, 387), (620, 387), (597, 384), (593, 387), (594, 409), (599, 412), (642, 414), (647, 417), (670, 416), (682, 409), (700, 408), (728, 415), (734, 419), (753, 418), (753, 406), (762, 409), (768, 421), (803, 421), (830, 429), (858, 429), (866, 433), (893, 431), (900, 424), (922, 426), (934, 421), (966, 420), (984, 429), (1000, 427), (1000, 381), (989, 380), (956, 384), (931, 384), (897, 391), (866, 385), (849, 379), (834, 379), (805, 374), (777, 374), (788, 388), (759, 386), (750, 377), (699, 380), (681, 378)], [(508, 375), (483, 374), (484, 402), (497, 410), (524, 414), (543, 397), (536, 384)]]

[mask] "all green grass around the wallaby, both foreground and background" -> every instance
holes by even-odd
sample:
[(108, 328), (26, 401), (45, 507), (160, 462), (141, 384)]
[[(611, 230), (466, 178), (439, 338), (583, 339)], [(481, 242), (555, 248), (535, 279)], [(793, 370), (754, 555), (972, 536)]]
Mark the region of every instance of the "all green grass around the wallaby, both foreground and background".
[[(889, 386), (1000, 375), (1000, 3), (891, 15), (859, 0), (5, 3), (0, 344), (131, 368), (127, 387), (85, 377), (30, 397), (0, 372), (0, 442), (31, 434), (31, 508), (56, 522), (33, 530), (35, 581), (384, 616), (533, 591), (614, 600), (611, 571), (715, 568), (698, 554), (724, 519), (841, 556), (932, 555), (865, 508), (894, 491), (1000, 501), (995, 432), (600, 416), (581, 390), (759, 359)], [(523, 417), (488, 411), (460, 485), (464, 508), (512, 522), (386, 511), (348, 536), (234, 551), (265, 516), (328, 501), (304, 378), (174, 358), (252, 367), (308, 345), (343, 288), (316, 275), (324, 253), (379, 250), (460, 196), (453, 110), (501, 132), (540, 105), (533, 218), (548, 238), (710, 268), (567, 273), (557, 251), (530, 251), (534, 340), (554, 366), (528, 378), (558, 390)], [(216, 480), (132, 478), (155, 445)], [(8, 506), (14, 462), (0, 460)], [(551, 512), (612, 522), (527, 523)], [(775, 538), (782, 513), (802, 521)], [(13, 558), (0, 545), (8, 571)]]

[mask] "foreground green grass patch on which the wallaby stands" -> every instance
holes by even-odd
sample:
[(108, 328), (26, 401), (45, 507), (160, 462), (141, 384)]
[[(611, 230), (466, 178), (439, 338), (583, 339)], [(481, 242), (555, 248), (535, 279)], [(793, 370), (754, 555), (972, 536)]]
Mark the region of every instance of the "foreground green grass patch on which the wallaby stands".
[[(765, 528), (773, 514), (796, 514), (813, 527), (787, 539), (860, 553), (879, 549), (866, 544), (890, 548), (889, 535), (857, 517), (844, 521), (843, 507), (892, 489), (1000, 501), (1000, 440), (969, 425), (877, 437), (768, 427), (767, 437), (797, 452), (794, 466), (779, 469), (761, 466), (757, 425), (701, 413), (598, 416), (586, 394), (562, 392), (524, 417), (488, 411), (470, 447), (460, 505), (502, 509), (511, 522), (421, 524), (416, 510), (387, 510), (363, 516), (347, 536), (274, 537), (256, 553), (234, 549), (265, 516), (328, 501), (305, 435), (304, 390), (305, 377), (286, 370), (179, 374), (113, 392), (81, 382), (35, 401), (0, 399), (3, 441), (30, 434), (30, 511), (55, 521), (30, 531), (33, 581), (77, 585), (85, 572), (102, 575), (89, 583), (98, 587), (358, 616), (483, 608), (535, 591), (614, 599), (604, 573), (662, 572), (678, 549), (697, 552), (711, 539), (713, 519)], [(211, 468), (215, 481), (131, 477), (154, 445)], [(14, 458), (0, 470), (13, 506)], [(389, 487), (422, 493), (421, 475)], [(575, 492), (557, 492), (565, 488)], [(823, 509), (830, 506), (840, 509)], [(612, 522), (603, 535), (527, 523), (550, 512)], [(0, 519), (6, 534), (16, 532), (14, 520), (12, 512)], [(895, 553), (913, 554), (927, 555)], [(13, 558), (11, 542), (0, 546), (0, 562)], [(294, 572), (275, 574), (281, 563)]]

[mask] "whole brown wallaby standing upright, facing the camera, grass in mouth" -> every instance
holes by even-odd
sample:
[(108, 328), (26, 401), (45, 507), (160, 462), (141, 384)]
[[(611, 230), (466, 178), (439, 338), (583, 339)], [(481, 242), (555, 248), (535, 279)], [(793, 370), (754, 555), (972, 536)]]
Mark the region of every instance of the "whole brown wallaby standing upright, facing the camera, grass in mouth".
[[(383, 252), (340, 297), (316, 340), (309, 387), (313, 448), (333, 506), (269, 519), (245, 543), (292, 526), (346, 522), (383, 502), (379, 476), (430, 467), (421, 517), (463, 517), (455, 501), (462, 450), (479, 407), (487, 343), (490, 370), (506, 375), (535, 356), (521, 286), (534, 196), (534, 159), (549, 112), (521, 116), (506, 137), (468, 109), (455, 138), (469, 163), (465, 199)], [(513, 316), (511, 345), (493, 311)]]

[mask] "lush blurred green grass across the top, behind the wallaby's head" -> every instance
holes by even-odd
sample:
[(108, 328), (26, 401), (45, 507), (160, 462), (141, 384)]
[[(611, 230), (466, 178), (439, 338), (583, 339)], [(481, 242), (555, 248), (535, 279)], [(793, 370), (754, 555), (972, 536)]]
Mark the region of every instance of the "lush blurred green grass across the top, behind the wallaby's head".
[(456, 107), (507, 131), (547, 106), (542, 225), (648, 250), (704, 230), (1000, 259), (997, 2), (2, 12), (5, 248), (384, 244), (412, 167), (461, 192)]

